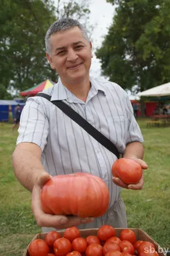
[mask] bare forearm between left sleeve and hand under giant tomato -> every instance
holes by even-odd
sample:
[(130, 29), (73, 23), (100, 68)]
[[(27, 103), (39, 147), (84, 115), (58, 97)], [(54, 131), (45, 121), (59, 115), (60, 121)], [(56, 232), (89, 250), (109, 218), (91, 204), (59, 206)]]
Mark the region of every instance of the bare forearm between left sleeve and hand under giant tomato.
[(45, 172), (41, 163), (42, 150), (35, 143), (19, 143), (13, 152), (13, 170), (20, 184), (29, 191), (40, 179), (50, 175)]

